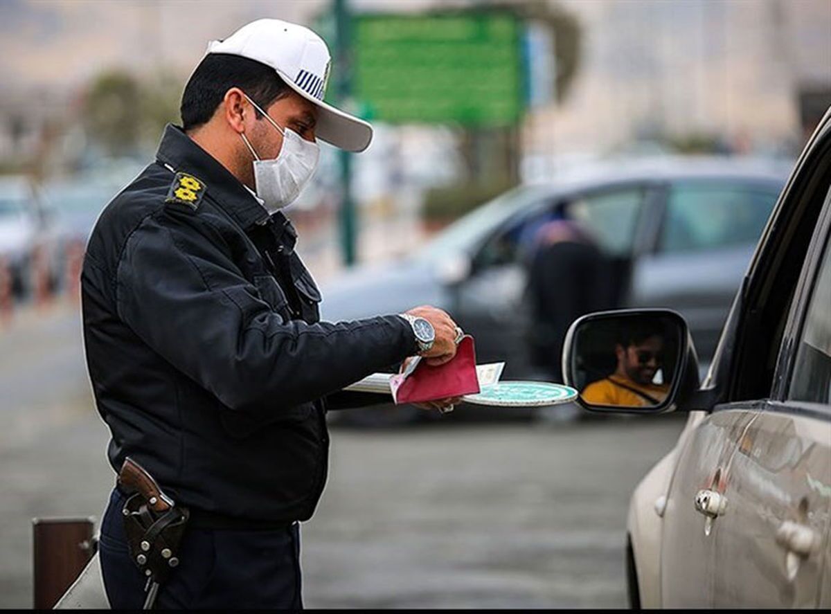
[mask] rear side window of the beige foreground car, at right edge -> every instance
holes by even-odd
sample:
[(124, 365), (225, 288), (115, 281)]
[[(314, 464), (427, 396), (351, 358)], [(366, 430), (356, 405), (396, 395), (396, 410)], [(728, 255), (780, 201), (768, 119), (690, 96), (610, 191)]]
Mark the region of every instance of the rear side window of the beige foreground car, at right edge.
[(797, 346), (789, 400), (831, 405), (831, 248), (826, 246)]

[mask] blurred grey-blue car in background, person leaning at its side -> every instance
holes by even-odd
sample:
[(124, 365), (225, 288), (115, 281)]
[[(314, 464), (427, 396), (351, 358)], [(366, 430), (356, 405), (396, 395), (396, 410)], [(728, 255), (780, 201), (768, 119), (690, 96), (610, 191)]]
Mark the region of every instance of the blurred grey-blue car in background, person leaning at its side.
[[(475, 336), (480, 363), (507, 363), (504, 379), (548, 379), (529, 353), (524, 241), (528, 228), (564, 214), (593, 233), (612, 263), (617, 306), (680, 312), (706, 369), (788, 172), (788, 163), (774, 160), (661, 158), (593, 165), (520, 186), (411, 256), (356, 268), (324, 287), (322, 316), (355, 319), (430, 303)], [(425, 412), (335, 413), (386, 423)]]

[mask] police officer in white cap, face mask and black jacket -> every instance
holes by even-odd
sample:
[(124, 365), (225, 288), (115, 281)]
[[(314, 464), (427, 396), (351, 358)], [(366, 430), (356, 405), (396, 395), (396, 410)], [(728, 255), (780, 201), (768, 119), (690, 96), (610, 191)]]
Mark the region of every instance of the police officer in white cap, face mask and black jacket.
[[(317, 138), (361, 151), (372, 134), (322, 101), (329, 64), (320, 37), (276, 19), (212, 42), (183, 127), (166, 127), (87, 246), (86, 360), (110, 462), (130, 456), (190, 510), (160, 607), (302, 607), (297, 521), (326, 481), (327, 397), (407, 356), (455, 355), (459, 331), (433, 307), (319, 322), (280, 209), (311, 177)], [(111, 605), (136, 608), (124, 501), (114, 489), (101, 568)]]

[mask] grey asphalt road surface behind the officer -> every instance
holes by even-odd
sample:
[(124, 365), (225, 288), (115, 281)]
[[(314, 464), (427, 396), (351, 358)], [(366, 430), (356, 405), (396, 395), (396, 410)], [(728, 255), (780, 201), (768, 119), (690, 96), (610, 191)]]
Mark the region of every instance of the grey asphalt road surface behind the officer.
[[(100, 518), (112, 483), (81, 352), (74, 307), (0, 331), (0, 607), (31, 607), (31, 518)], [(337, 430), (306, 605), (623, 607), (628, 496), (681, 425)]]

